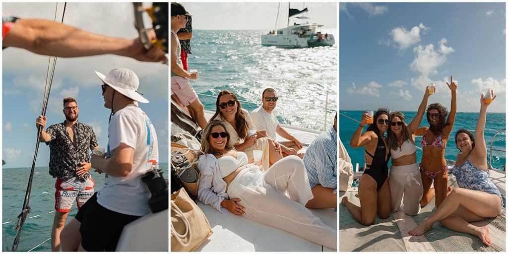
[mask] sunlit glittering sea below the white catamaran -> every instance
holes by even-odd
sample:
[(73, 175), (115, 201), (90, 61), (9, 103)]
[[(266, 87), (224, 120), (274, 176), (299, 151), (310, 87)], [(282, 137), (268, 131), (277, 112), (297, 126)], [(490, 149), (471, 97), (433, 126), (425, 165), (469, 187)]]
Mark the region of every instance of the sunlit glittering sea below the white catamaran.
[[(267, 87), (277, 91), (279, 122), (324, 131), (337, 109), (337, 46), (280, 48), (261, 45), (268, 30), (194, 30), (188, 69), (205, 109), (215, 111), (217, 94), (233, 91), (249, 112), (261, 105)], [(335, 29), (323, 29), (337, 37)], [(328, 124), (325, 107), (328, 93)]]

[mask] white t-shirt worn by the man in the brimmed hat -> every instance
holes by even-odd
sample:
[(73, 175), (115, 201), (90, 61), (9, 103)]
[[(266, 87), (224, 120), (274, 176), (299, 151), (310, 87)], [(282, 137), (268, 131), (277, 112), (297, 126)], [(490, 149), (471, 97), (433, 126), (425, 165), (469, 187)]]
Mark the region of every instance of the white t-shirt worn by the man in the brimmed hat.
[(148, 161), (158, 162), (155, 128), (143, 110), (129, 104), (111, 117), (108, 131), (108, 155), (111, 156), (110, 151), (124, 143), (134, 148), (134, 160), (128, 176), (106, 174), (97, 202), (115, 212), (143, 216), (150, 212), (147, 202), (151, 194), (141, 177), (151, 168)]

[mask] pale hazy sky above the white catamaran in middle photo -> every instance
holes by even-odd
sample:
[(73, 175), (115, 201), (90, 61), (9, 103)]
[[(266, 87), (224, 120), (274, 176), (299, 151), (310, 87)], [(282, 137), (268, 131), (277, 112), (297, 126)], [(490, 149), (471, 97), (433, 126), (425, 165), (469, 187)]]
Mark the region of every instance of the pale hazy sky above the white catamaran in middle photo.
[[(279, 3), (182, 3), (193, 15), (194, 29), (274, 29)], [(309, 9), (307, 16), (324, 28), (337, 28), (337, 3), (291, 3), (292, 9)], [(277, 28), (288, 24), (288, 3), (280, 3)], [(291, 21), (294, 22), (294, 21)]]

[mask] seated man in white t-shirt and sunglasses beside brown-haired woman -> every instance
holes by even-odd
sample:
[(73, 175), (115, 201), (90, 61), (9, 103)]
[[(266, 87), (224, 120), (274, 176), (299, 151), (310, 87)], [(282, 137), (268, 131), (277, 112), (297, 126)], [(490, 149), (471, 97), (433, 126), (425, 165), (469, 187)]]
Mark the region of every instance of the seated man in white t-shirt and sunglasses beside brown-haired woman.
[(276, 134), (284, 139), (290, 140), (280, 143), (275, 141), (276, 146), (280, 147), (282, 156), (298, 155), (303, 157), (303, 154), (298, 154), (298, 150), (303, 147), (302, 142), (284, 130), (277, 120), (277, 115), (273, 111), (277, 106), (277, 100), (278, 97), (275, 89), (266, 88), (261, 95), (263, 105), (255, 110), (252, 110), (250, 113), (252, 122), (256, 125), (258, 133), (265, 135), (274, 141), (276, 140)]

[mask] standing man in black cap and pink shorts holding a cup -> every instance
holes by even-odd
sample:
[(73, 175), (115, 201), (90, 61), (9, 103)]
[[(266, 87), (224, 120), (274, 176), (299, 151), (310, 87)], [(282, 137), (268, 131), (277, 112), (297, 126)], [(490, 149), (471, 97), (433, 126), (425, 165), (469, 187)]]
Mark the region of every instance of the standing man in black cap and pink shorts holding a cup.
[(190, 85), (190, 79), (198, 79), (198, 73), (189, 73), (183, 69), (181, 46), (176, 32), (185, 28), (187, 18), (192, 17), (182, 4), (171, 4), (171, 99), (184, 108), (196, 123), (205, 129), (205, 107), (198, 98), (198, 94)]

